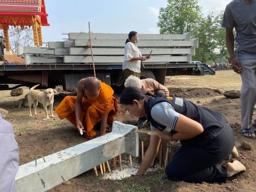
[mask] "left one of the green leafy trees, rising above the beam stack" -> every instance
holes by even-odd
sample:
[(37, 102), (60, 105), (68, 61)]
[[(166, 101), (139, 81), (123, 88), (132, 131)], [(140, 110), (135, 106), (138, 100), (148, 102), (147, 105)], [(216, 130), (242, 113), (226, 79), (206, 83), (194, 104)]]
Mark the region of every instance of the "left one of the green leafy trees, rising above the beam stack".
[(167, 6), (159, 10), (158, 18), (160, 34), (193, 33), (202, 18), (201, 7), (197, 0), (167, 0)]

